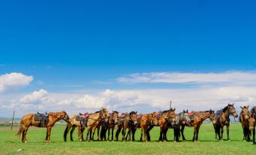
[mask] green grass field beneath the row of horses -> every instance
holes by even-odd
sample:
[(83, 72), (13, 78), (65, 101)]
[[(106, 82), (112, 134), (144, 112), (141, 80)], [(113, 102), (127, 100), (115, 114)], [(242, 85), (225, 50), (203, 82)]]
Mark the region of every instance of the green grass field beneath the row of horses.
[[(45, 139), (45, 128), (31, 128), (27, 134), (27, 143), (23, 144), (20, 138), (15, 136), (17, 127), (13, 131), (10, 127), (0, 127), (0, 154), (256, 154), (256, 145), (242, 141), (242, 127), (239, 123), (230, 126), (231, 141), (214, 141), (214, 129), (212, 124), (205, 123), (199, 131), (199, 142), (191, 141), (193, 128), (185, 129), (187, 141), (159, 142), (159, 128), (151, 132), (150, 142), (122, 142), (119, 141), (78, 141), (77, 132), (73, 137), (76, 141), (63, 141), (65, 126), (54, 126), (51, 132), (51, 142)], [(96, 137), (95, 137), (96, 138)], [(137, 130), (137, 140), (140, 138), (140, 130)], [(224, 138), (227, 138), (226, 130)], [(172, 129), (168, 130), (168, 139), (173, 139)], [(17, 152), (18, 149), (24, 149)]]

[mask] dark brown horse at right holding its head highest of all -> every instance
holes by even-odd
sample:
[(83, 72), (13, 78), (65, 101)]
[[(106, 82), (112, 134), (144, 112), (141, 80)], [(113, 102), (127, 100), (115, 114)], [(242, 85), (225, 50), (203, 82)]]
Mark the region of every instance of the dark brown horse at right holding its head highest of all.
[(228, 104), (221, 111), (217, 111), (217, 122), (214, 124), (215, 140), (217, 140), (217, 135), (219, 140), (223, 140), (224, 126), (227, 126), (227, 140), (230, 141), (230, 115), (238, 117), (234, 104)]

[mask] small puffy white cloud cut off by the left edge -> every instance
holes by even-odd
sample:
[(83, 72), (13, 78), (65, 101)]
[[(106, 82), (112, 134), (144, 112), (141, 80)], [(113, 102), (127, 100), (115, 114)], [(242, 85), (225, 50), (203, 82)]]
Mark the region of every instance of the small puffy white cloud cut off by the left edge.
[(32, 76), (28, 76), (22, 73), (1, 74), (0, 93), (26, 87), (32, 80)]

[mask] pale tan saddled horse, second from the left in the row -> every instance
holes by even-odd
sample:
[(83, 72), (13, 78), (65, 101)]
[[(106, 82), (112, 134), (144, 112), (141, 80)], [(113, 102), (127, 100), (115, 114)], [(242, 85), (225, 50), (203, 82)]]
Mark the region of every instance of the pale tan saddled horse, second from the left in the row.
[[(85, 117), (84, 118), (84, 119), (86, 119), (85, 124), (83, 124), (80, 120), (76, 119), (77, 117), (81, 117), (81, 116)], [(71, 131), (70, 131), (70, 140), (73, 141), (72, 133), (74, 132), (76, 127), (78, 129), (79, 140), (84, 141), (83, 132), (85, 130), (87, 121), (88, 121), (88, 113), (72, 115), (72, 117), (69, 119), (69, 123), (66, 124), (66, 129), (65, 129), (65, 132), (64, 132), (64, 135), (63, 135), (64, 141), (66, 141), (66, 135), (67, 135), (67, 133), (69, 132), (70, 129), (71, 129)]]

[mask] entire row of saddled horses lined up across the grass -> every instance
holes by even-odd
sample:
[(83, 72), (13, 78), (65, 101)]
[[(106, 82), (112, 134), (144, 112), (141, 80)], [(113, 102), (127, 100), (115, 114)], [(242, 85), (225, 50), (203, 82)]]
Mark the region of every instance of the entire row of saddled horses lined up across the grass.
[[(239, 121), (242, 124), (243, 140), (255, 141), (255, 120), (256, 107), (248, 110), (248, 106), (241, 106), (241, 113), (239, 114)], [(193, 127), (193, 141), (199, 141), (199, 129), (202, 122), (206, 119), (211, 120), (214, 126), (215, 139), (223, 140), (224, 126), (227, 126), (227, 140), (230, 140), (230, 116), (238, 117), (234, 104), (228, 104), (225, 108), (216, 113), (209, 111), (181, 111), (175, 113), (175, 108), (167, 111), (153, 112), (150, 114), (137, 114), (137, 111), (130, 113), (119, 114), (118, 111), (109, 113), (106, 108), (100, 109), (92, 114), (78, 114), (69, 118), (65, 111), (48, 113), (48, 121), (45, 123), (47, 128), (46, 141), (50, 141), (51, 128), (59, 120), (67, 122), (65, 132), (63, 134), (64, 141), (68, 132), (70, 131), (70, 140), (73, 141), (72, 133), (78, 129), (80, 141), (84, 141), (83, 132), (87, 128), (86, 141), (94, 140), (94, 133), (97, 129), (97, 140), (111, 140), (119, 141), (119, 134), (122, 133), (122, 141), (135, 141), (134, 135), (137, 129), (140, 129), (140, 141), (150, 141), (150, 130), (154, 126), (159, 126), (160, 134), (159, 141), (168, 141), (166, 133), (168, 129), (174, 129), (174, 141), (179, 141), (180, 133), (183, 141), (186, 141), (184, 136), (185, 126)], [(40, 126), (39, 121), (35, 120), (35, 114), (26, 114), (20, 120), (19, 130), (17, 135), (22, 134), (22, 142), (26, 142), (26, 132), (29, 126)], [(78, 119), (80, 118), (80, 119)], [(116, 135), (114, 138), (114, 129), (116, 128)], [(70, 130), (71, 129), (71, 130)], [(126, 131), (128, 130), (127, 134)], [(106, 138), (107, 132), (107, 138)]]

